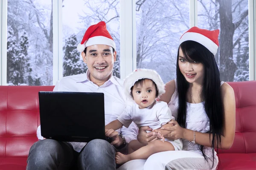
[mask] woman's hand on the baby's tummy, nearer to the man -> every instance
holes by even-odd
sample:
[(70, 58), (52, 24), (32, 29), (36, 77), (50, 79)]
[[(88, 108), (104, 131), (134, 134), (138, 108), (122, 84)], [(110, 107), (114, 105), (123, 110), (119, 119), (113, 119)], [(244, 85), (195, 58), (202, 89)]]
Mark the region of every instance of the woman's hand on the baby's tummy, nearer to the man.
[(137, 139), (142, 144), (149, 144), (149, 142), (152, 142), (153, 140), (157, 140), (157, 134), (155, 132), (149, 132), (147, 133), (146, 130), (152, 131), (152, 129), (148, 126), (140, 127), (139, 134), (137, 135)]

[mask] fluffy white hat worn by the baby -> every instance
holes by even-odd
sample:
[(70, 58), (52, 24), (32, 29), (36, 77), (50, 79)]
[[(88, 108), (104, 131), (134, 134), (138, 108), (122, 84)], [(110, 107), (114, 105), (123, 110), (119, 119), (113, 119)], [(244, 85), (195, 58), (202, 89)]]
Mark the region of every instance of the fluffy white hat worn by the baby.
[(150, 69), (136, 69), (133, 73), (125, 78), (124, 89), (125, 95), (128, 99), (133, 99), (131, 96), (131, 87), (134, 86), (135, 82), (140, 79), (151, 79), (157, 85), (157, 97), (160, 97), (165, 93), (165, 84), (156, 71)]

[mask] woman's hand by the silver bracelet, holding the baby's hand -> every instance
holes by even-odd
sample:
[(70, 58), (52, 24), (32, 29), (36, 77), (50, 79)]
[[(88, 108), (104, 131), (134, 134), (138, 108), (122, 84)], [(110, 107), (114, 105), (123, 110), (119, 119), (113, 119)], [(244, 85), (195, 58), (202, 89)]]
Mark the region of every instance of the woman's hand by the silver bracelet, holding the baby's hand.
[(164, 136), (166, 139), (171, 139), (171, 140), (180, 139), (180, 138), (183, 139), (184, 128), (180, 127), (178, 122), (175, 120), (171, 120), (166, 125), (163, 125), (161, 129), (170, 131), (170, 133)]

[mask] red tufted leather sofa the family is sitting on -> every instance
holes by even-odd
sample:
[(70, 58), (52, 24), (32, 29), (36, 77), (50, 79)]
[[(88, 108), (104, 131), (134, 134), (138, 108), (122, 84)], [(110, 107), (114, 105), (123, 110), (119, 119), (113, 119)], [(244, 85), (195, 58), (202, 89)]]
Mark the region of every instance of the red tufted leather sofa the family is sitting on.
[[(256, 81), (228, 82), (236, 95), (236, 136), (219, 150), (218, 170), (256, 170)], [(38, 139), (38, 91), (54, 86), (0, 86), (0, 170), (25, 170)]]

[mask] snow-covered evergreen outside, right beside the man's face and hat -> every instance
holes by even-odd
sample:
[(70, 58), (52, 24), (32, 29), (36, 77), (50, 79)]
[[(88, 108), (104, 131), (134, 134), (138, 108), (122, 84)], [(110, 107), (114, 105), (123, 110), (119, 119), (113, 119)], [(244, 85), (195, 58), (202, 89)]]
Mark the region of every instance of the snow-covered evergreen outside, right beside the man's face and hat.
[(63, 60), (63, 76), (71, 76), (75, 74), (85, 73), (87, 65), (81, 59), (81, 54), (77, 51), (76, 35), (72, 34), (67, 40), (64, 46), (65, 55)]

